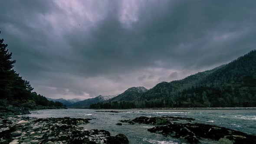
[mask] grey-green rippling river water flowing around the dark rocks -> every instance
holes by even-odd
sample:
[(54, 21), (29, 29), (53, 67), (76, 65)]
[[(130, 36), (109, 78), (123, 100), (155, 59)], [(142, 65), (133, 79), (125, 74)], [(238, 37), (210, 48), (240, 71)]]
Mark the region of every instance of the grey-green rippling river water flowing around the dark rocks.
[[(32, 111), (30, 117), (36, 118), (93, 118), (90, 123), (81, 125), (85, 129), (107, 130), (111, 135), (125, 134), (130, 144), (182, 144), (173, 137), (164, 137), (147, 131), (153, 128), (148, 124), (126, 124), (116, 125), (119, 120), (134, 119), (140, 116), (177, 116), (195, 118), (198, 123), (214, 124), (248, 134), (256, 135), (256, 109), (215, 109), (215, 110), (112, 110), (125, 111), (121, 113), (97, 112), (93, 109), (54, 109)], [(111, 111), (111, 110), (100, 110)], [(217, 141), (202, 140), (204, 144), (218, 144)]]

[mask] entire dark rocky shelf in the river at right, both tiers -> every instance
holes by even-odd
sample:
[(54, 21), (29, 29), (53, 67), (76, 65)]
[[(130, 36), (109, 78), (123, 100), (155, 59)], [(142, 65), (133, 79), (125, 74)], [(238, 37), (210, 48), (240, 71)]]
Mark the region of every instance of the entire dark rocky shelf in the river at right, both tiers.
[[(220, 144), (256, 144), (256, 135), (219, 127), (210, 124), (184, 123), (195, 121), (193, 118), (182, 117), (138, 117), (133, 120), (121, 120), (129, 124), (162, 125), (149, 128), (148, 131), (180, 138), (191, 144), (200, 143), (201, 139), (219, 141)], [(120, 124), (121, 125), (121, 124)]]

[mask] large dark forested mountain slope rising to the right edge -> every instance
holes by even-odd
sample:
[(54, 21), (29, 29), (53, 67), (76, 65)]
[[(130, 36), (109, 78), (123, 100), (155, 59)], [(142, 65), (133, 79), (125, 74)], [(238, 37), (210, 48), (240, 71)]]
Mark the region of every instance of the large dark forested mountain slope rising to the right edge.
[(256, 50), (185, 79), (121, 95), (91, 108), (253, 107), (256, 106)]

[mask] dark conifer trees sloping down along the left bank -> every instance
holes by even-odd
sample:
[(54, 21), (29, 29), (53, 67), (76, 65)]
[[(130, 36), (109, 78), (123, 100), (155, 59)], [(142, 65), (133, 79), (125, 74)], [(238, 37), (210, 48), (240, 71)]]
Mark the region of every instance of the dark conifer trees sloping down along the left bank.
[(22, 79), (18, 73), (13, 70), (12, 53), (8, 52), (7, 44), (0, 39), (0, 99), (16, 101), (19, 105), (25, 106), (43, 105), (43, 106), (63, 106), (60, 102), (48, 101), (43, 95), (32, 92), (33, 88), (30, 82)]

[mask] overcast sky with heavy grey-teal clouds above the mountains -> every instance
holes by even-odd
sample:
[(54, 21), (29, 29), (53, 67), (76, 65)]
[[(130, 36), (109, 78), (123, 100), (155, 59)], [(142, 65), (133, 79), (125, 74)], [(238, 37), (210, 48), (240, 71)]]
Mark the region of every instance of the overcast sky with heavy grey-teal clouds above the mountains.
[(49, 98), (152, 88), (256, 46), (256, 0), (1, 0), (15, 70)]

